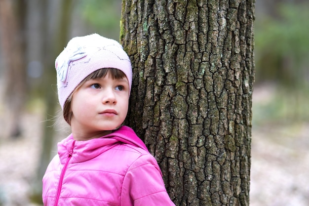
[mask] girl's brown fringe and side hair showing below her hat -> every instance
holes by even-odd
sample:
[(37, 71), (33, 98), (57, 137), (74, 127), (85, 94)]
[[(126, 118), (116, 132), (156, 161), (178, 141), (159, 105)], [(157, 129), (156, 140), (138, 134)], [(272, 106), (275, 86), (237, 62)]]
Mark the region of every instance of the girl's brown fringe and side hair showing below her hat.
[(96, 70), (94, 72), (92, 72), (90, 75), (88, 75), (85, 79), (83, 79), (83, 81), (81, 81), (77, 87), (73, 90), (73, 92), (70, 94), (70, 96), (67, 98), (66, 102), (64, 103), (63, 106), (63, 117), (65, 119), (65, 121), (71, 125), (71, 119), (72, 119), (72, 111), (71, 111), (71, 101), (72, 101), (72, 96), (74, 94), (74, 92), (77, 91), (77, 89), (79, 89), (79, 87), (84, 83), (87, 82), (89, 80), (93, 80), (93, 79), (100, 79), (100, 78), (104, 78), (107, 74), (110, 75), (110, 77), (113, 80), (117, 80), (117, 79), (123, 79), (125, 76), (125, 74), (118, 69), (114, 69), (114, 68), (103, 68), (103, 69), (99, 69)]

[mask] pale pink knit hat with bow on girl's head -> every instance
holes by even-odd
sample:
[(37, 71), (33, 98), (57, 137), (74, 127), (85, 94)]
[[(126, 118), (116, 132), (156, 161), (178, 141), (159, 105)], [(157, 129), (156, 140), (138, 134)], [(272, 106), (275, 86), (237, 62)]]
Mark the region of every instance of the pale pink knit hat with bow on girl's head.
[(131, 61), (115, 40), (98, 34), (75, 37), (55, 61), (58, 98), (61, 108), (77, 85), (92, 72), (102, 68), (121, 70), (132, 84)]

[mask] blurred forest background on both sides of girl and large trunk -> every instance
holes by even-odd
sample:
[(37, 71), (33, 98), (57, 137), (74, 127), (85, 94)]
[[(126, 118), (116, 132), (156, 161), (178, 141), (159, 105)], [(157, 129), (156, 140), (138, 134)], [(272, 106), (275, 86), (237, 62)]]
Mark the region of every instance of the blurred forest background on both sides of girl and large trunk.
[[(309, 205), (309, 2), (257, 0), (251, 206)], [(121, 0), (0, 0), (0, 206), (35, 206), (70, 132), (54, 61), (75, 36), (119, 40)], [(56, 136), (56, 138), (53, 138)]]

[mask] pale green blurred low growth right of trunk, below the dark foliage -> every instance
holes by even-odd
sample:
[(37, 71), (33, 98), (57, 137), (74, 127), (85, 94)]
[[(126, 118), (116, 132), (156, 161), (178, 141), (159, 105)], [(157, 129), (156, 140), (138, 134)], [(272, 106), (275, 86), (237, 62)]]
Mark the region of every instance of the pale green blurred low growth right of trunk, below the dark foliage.
[(253, 125), (309, 122), (308, 87), (291, 93), (280, 86), (264, 85), (254, 92), (258, 94), (252, 104)]

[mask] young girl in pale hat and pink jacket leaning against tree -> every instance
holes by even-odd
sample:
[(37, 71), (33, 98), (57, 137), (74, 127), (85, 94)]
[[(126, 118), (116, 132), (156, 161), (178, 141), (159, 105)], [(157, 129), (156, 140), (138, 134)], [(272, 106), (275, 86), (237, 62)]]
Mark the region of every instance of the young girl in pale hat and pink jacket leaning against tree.
[(132, 85), (122, 46), (98, 34), (76, 37), (55, 65), (72, 134), (58, 143), (43, 177), (44, 206), (175, 206), (154, 157), (121, 126)]

